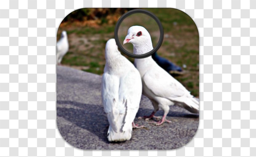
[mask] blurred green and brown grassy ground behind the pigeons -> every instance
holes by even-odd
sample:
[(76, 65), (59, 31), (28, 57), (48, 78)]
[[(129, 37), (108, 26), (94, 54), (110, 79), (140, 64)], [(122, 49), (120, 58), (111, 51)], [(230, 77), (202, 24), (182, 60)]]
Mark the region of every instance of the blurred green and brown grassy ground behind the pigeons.
[[(65, 17), (57, 32), (57, 40), (63, 30), (68, 33), (69, 51), (64, 56), (62, 65), (102, 75), (105, 66), (105, 43), (110, 38), (114, 38), (116, 22), (129, 10), (132, 8), (79, 9)], [(157, 51), (158, 55), (183, 68), (184, 75), (175, 76), (175, 79), (198, 97), (199, 34), (194, 21), (186, 13), (172, 8), (145, 8), (145, 10), (154, 13), (163, 25), (164, 39)], [(136, 16), (136, 14), (130, 15), (131, 18), (129, 16), (122, 22), (118, 35), (122, 30), (119, 36), (124, 38), (130, 25), (144, 23), (150, 26), (147, 29), (152, 32), (154, 46), (159, 39), (158, 26), (154, 24), (153, 19), (141, 18), (147, 15)], [(154, 28), (155, 25), (157, 29)], [(131, 44), (125, 45), (127, 45), (126, 49), (132, 50)], [(123, 53), (122, 55), (126, 56)], [(126, 58), (131, 62), (134, 61), (131, 57), (126, 56)]]

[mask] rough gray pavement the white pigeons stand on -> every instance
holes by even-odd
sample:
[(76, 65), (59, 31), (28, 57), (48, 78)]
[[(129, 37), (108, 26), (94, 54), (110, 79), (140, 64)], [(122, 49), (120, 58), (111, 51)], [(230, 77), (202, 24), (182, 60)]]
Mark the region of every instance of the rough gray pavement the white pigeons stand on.
[[(188, 143), (196, 133), (199, 117), (178, 106), (170, 106), (172, 123), (155, 126), (139, 116), (149, 115), (153, 106), (142, 95), (132, 138), (122, 143), (107, 140), (108, 120), (101, 103), (101, 76), (68, 67), (57, 67), (57, 125), (60, 134), (80, 149), (175, 149)], [(160, 110), (156, 116), (162, 116)], [(150, 120), (153, 121), (153, 120)]]

